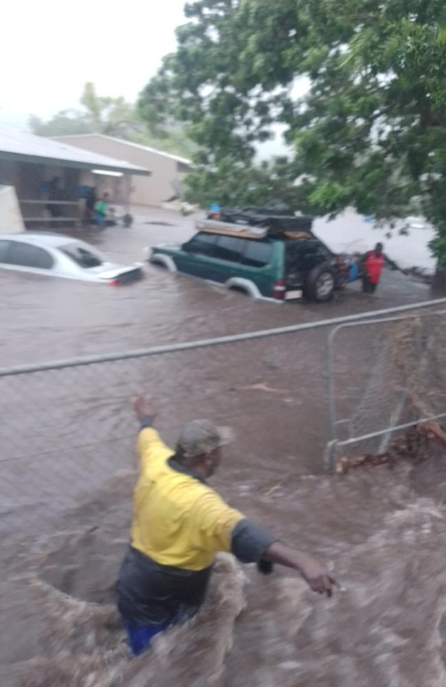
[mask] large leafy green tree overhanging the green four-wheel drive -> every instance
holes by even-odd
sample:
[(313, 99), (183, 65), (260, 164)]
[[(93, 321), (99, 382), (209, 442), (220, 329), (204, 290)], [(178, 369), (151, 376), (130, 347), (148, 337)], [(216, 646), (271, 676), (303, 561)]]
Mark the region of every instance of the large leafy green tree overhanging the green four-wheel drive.
[[(140, 109), (152, 126), (187, 122), (195, 199), (213, 185), (215, 200), (237, 187), (241, 202), (246, 188), (250, 202), (279, 192), (316, 214), (353, 205), (388, 221), (415, 207), (446, 267), (444, 0), (196, 0), (185, 14)], [(292, 154), (259, 168), (274, 124)]]

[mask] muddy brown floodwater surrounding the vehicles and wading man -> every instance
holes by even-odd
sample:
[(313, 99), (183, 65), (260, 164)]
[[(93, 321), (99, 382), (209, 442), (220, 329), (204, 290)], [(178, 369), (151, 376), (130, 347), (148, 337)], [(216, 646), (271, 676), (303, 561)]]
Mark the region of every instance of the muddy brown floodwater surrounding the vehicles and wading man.
[[(143, 247), (192, 231), (189, 218), (153, 210), (131, 229), (82, 238), (133, 262)], [(386, 271), (373, 296), (353, 285), (330, 304), (279, 306), (151, 266), (122, 288), (0, 271), (0, 289), (3, 368), (430, 297), (425, 285)], [(346, 339), (344, 404), (360, 397), (373, 337)], [(1, 687), (446, 684), (446, 451), (432, 447), (428, 460), (392, 469), (322, 474), (326, 339), (317, 329), (0, 379)], [(187, 419), (232, 425), (236, 441), (213, 486), (278, 539), (325, 561), (345, 591), (327, 600), (290, 570), (261, 576), (222, 556), (198, 616), (130, 660), (113, 587), (128, 543), (139, 391), (156, 399), (169, 442)]]

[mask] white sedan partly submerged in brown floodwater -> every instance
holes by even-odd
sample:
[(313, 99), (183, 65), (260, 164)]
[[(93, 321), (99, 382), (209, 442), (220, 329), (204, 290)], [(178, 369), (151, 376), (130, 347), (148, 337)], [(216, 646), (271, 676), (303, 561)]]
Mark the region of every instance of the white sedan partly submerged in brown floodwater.
[(142, 265), (109, 262), (95, 248), (62, 234), (0, 234), (0, 268), (102, 284), (141, 279)]

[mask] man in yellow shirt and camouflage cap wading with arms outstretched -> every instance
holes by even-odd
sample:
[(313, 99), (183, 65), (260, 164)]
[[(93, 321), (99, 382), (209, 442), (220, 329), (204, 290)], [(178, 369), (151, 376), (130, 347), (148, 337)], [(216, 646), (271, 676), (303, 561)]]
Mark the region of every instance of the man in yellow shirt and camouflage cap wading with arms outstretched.
[(134, 408), (141, 425), (141, 471), (131, 545), (117, 583), (118, 607), (134, 654), (148, 649), (154, 635), (198, 611), (218, 551), (257, 563), (263, 572), (272, 563), (294, 568), (314, 592), (331, 596), (336, 583), (318, 561), (276, 541), (207, 486), (229, 440), (227, 429), (208, 420), (187, 423), (172, 451), (153, 429), (151, 405), (137, 398)]

